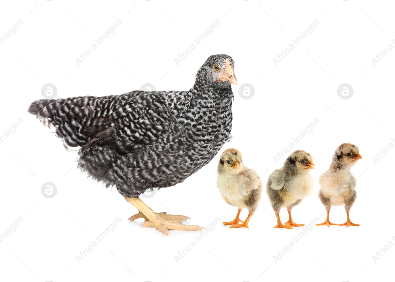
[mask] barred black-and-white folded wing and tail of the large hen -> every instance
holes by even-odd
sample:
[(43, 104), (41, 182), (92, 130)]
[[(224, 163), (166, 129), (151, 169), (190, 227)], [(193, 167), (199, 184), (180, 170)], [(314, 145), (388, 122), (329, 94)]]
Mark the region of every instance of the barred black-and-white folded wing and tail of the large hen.
[(182, 91), (133, 91), (119, 96), (41, 99), (28, 112), (53, 125), (65, 147), (105, 145), (126, 153), (155, 143), (179, 113)]

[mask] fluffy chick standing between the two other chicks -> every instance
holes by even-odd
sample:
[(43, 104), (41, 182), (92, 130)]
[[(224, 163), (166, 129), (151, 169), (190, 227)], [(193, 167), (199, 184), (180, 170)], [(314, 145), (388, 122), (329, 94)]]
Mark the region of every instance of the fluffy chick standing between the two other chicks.
[[(313, 190), (314, 181), (310, 175), (310, 169), (314, 169), (312, 156), (303, 150), (297, 150), (290, 154), (280, 169), (275, 169), (269, 175), (267, 180), (266, 191), (270, 199), (272, 208), (276, 214), (277, 225), (275, 228), (288, 228), (292, 226), (299, 227), (305, 224), (293, 222), (291, 211), (296, 205)], [(280, 209), (286, 207), (290, 219), (282, 224), (280, 220)]]

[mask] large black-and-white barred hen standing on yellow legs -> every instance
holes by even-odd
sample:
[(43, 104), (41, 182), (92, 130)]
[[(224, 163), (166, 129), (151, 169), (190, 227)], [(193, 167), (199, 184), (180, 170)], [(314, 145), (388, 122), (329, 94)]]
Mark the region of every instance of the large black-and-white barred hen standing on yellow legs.
[[(186, 216), (153, 212), (141, 199), (147, 189), (173, 186), (209, 163), (230, 136), (234, 62), (210, 56), (187, 91), (132, 91), (118, 96), (41, 99), (28, 112), (66, 148), (79, 150), (78, 167), (106, 187), (115, 186), (144, 218), (165, 235), (168, 229), (201, 230), (181, 224)], [(172, 221), (174, 220), (174, 221)]]

